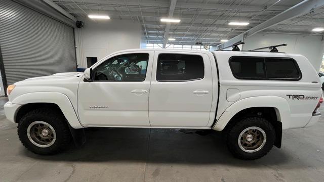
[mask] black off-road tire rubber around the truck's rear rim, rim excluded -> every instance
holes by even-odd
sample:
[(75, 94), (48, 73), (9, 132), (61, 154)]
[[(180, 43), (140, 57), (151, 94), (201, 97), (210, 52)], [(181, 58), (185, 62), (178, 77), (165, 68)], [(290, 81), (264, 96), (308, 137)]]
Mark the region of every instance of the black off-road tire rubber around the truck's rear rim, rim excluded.
[[(256, 126), (264, 130), (266, 142), (264, 146), (256, 152), (248, 153), (242, 150), (238, 145), (239, 134), (246, 128)], [(265, 156), (272, 148), (275, 142), (275, 129), (272, 124), (262, 117), (248, 117), (237, 121), (227, 130), (226, 144), (228, 150), (234, 157), (242, 160), (255, 160)]]

